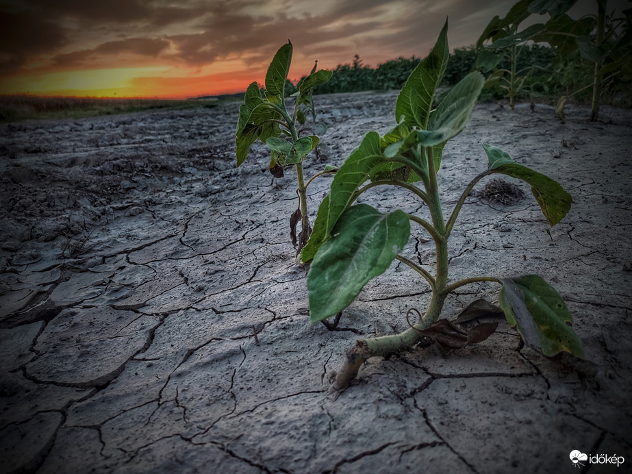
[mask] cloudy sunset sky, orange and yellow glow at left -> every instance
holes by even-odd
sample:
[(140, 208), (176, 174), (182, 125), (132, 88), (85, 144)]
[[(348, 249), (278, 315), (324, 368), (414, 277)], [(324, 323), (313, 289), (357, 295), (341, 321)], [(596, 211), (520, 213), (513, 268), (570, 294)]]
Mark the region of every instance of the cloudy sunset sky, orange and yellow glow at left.
[[(517, 0), (1, 0), (0, 94), (197, 97), (263, 82), (294, 45), (290, 79), (472, 45)], [(579, 0), (571, 16), (595, 10)], [(627, 3), (624, 0), (610, 0)], [(629, 4), (629, 3), (628, 3)], [(543, 18), (546, 20), (546, 18)]]

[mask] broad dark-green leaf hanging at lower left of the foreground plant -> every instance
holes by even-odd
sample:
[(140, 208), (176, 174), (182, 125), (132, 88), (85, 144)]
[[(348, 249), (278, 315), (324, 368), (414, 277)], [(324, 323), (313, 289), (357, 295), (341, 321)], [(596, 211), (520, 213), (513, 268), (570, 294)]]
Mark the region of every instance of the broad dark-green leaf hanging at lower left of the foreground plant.
[(347, 209), (320, 247), (307, 274), (309, 319), (327, 319), (347, 306), (373, 277), (390, 266), (408, 242), (405, 212), (382, 214), (367, 204)]

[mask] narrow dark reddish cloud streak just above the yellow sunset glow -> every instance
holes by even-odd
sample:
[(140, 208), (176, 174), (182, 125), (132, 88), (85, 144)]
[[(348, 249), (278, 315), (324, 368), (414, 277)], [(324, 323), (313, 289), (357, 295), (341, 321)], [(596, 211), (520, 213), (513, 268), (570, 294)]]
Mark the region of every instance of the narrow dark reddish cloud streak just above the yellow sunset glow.
[(53, 62), (56, 66), (82, 66), (100, 56), (119, 53), (134, 53), (155, 58), (168, 47), (169, 42), (163, 39), (127, 38), (127, 40), (104, 42), (94, 49), (82, 49), (73, 53), (56, 55)]

